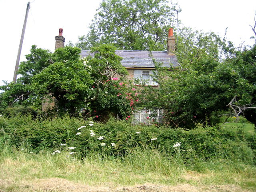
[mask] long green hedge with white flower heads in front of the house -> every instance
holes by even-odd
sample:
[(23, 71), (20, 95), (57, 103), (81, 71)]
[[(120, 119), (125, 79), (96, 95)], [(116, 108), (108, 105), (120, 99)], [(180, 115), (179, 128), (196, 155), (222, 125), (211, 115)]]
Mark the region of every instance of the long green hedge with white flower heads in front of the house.
[(246, 136), (242, 130), (217, 126), (197, 125), (197, 129), (184, 130), (132, 125), (131, 119), (110, 118), (102, 124), (68, 116), (33, 120), (31, 115), (1, 116), (0, 125), (2, 140), (20, 149), (28, 146), (31, 152), (51, 149), (52, 154), (69, 151), (70, 155), (79, 156), (100, 152), (114, 158), (149, 149), (186, 164), (219, 159), (255, 163), (255, 134)]

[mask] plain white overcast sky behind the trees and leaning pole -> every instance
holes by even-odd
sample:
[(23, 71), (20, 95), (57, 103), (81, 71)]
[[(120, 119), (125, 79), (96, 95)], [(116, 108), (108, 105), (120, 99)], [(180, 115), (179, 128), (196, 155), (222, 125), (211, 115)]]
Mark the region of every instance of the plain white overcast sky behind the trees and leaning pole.
[[(66, 42), (78, 41), (86, 35), (88, 26), (102, 0), (31, 0), (20, 61), (29, 54), (32, 44), (54, 52), (55, 36), (63, 28)], [(253, 45), (256, 0), (173, 0), (182, 12), (178, 18), (184, 26), (204, 32), (212, 31), (224, 36), (236, 46), (242, 41)], [(28, 0), (0, 0), (0, 85), (2, 80), (12, 81), (20, 36)], [(166, 34), (167, 38), (167, 34)]]

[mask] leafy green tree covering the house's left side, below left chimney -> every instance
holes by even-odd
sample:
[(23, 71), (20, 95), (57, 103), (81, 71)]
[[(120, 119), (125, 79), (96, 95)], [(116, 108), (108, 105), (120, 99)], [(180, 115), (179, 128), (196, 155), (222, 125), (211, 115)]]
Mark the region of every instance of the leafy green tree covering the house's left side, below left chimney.
[(76, 47), (58, 48), (52, 54), (32, 46), (27, 61), (20, 65), (17, 82), (1, 86), (1, 105), (41, 108), (42, 102), (54, 97), (60, 113), (75, 114), (84, 108), (84, 115), (96, 117), (109, 111), (128, 116), (132, 105), (124, 95), (131, 87), (126, 86), (127, 71), (115, 50), (110, 45), (93, 47), (92, 56), (81, 58), (80, 48)]

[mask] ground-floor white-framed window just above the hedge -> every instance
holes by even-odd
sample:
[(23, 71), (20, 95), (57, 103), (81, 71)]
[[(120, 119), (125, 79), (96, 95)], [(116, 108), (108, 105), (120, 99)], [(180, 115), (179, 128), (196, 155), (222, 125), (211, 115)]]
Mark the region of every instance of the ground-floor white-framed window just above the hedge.
[(153, 124), (154, 122), (161, 123), (163, 118), (163, 110), (162, 109), (153, 109), (153, 110), (141, 110), (134, 113), (132, 118), (133, 124)]

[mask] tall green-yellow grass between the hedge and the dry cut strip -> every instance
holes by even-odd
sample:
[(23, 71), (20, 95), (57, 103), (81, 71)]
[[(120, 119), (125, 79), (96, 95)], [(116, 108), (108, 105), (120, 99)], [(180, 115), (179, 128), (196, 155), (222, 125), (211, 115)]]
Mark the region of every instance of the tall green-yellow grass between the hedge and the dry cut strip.
[(100, 153), (68, 156), (67, 152), (51, 155), (51, 151), (30, 154), (5, 146), (0, 155), (0, 190), (22, 191), (22, 186), (47, 178), (63, 178), (89, 186), (134, 186), (136, 184), (211, 186), (234, 184), (256, 190), (256, 167), (230, 160), (193, 165), (181, 163), (157, 150), (131, 150), (124, 158)]

